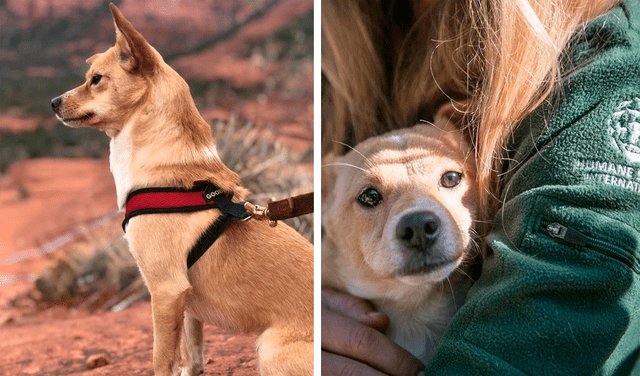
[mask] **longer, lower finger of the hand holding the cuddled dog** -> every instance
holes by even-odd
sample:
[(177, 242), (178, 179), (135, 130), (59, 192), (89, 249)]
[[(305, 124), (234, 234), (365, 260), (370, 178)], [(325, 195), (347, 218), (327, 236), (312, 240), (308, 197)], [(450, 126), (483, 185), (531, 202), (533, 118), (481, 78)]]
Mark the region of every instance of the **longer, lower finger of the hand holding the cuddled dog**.
[(415, 375), (423, 368), (413, 355), (384, 334), (322, 308), (322, 348), (389, 375)]

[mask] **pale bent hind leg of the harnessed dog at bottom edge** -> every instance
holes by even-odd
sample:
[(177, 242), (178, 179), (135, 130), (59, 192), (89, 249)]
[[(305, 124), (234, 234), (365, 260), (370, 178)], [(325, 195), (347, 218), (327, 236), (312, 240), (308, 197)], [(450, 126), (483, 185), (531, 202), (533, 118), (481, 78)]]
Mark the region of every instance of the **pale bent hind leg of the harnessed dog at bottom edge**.
[(265, 330), (256, 343), (260, 375), (312, 376), (313, 333), (309, 338), (300, 337), (295, 329)]

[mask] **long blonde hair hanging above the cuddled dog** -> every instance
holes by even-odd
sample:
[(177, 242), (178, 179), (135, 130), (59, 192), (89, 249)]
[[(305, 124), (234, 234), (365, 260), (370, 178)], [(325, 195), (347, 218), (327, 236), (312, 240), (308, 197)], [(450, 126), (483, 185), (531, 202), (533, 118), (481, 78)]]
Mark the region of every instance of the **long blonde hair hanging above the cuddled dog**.
[(491, 215), (507, 139), (557, 86), (572, 35), (619, 1), (414, 0), (395, 13), (387, 3), (322, 1), (323, 151), (432, 120), (451, 101)]

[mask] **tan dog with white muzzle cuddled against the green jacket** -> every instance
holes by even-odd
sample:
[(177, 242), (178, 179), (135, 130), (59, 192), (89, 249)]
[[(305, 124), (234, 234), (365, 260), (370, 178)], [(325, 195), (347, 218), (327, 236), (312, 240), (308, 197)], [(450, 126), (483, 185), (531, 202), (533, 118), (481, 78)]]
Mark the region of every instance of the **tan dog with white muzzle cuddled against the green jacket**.
[(474, 175), (473, 153), (442, 120), (370, 138), (323, 167), (323, 286), (370, 300), (390, 318), (387, 335), (423, 362), (471, 283), (454, 271), (474, 244)]

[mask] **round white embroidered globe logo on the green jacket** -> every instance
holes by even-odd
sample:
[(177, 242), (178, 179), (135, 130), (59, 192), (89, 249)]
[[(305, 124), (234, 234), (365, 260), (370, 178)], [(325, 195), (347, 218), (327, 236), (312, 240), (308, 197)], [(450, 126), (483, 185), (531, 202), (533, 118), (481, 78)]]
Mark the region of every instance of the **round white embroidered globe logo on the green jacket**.
[(629, 162), (640, 163), (640, 98), (620, 103), (607, 127), (613, 148)]

